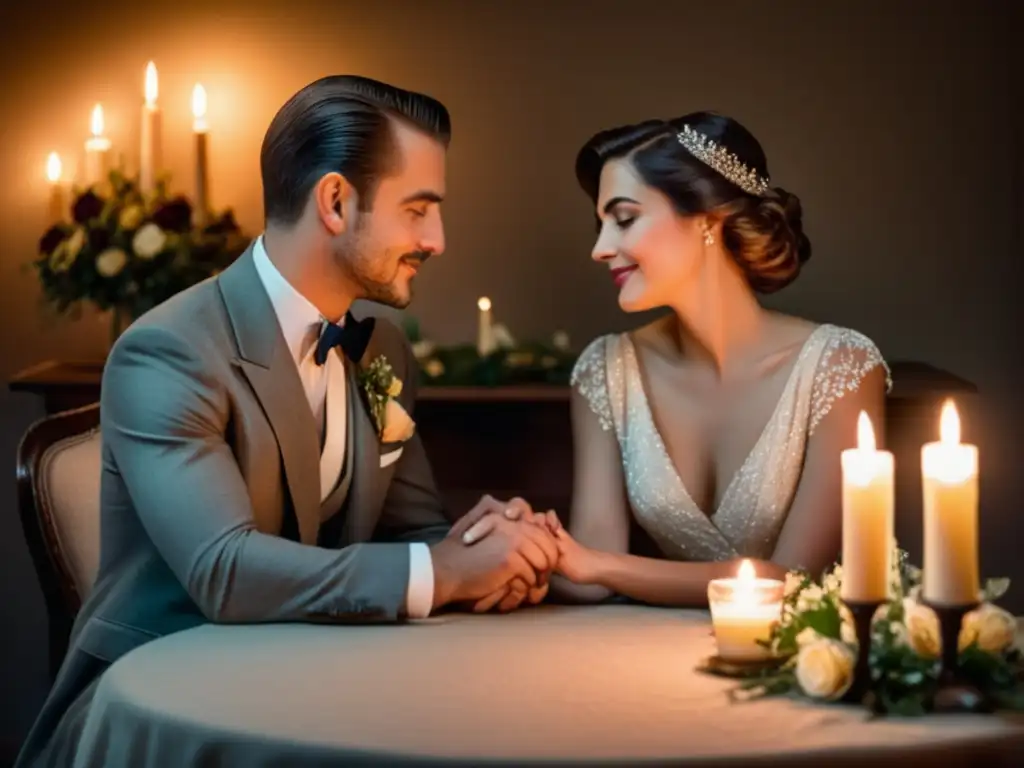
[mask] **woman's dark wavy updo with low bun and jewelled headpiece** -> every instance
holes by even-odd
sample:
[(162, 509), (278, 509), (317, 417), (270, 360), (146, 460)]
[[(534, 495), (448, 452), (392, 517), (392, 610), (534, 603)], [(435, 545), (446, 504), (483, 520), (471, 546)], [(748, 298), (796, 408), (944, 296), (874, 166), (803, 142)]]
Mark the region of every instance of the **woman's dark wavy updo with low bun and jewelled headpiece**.
[(680, 215), (721, 219), (723, 245), (755, 291), (784, 288), (811, 257), (800, 199), (768, 185), (764, 151), (735, 120), (696, 112), (601, 131), (584, 144), (575, 165), (580, 185), (595, 204), (604, 164), (625, 157)]

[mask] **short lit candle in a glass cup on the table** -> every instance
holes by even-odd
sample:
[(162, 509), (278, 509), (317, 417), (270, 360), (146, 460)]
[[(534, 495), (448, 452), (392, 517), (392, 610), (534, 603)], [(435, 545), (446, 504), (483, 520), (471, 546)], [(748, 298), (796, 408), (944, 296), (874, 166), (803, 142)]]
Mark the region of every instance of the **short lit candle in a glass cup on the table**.
[(712, 580), (708, 605), (718, 655), (732, 662), (768, 658), (771, 652), (758, 641), (769, 640), (781, 620), (782, 593), (782, 582), (758, 579), (750, 560), (743, 560), (735, 579)]

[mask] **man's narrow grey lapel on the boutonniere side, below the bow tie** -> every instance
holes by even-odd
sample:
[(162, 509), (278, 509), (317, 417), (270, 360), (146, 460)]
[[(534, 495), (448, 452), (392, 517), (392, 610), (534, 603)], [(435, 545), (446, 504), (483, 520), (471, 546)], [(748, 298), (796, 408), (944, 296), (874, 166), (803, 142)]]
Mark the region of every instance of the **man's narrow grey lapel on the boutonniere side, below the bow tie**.
[(356, 365), (345, 359), (348, 374), (349, 419), (352, 422), (352, 484), (345, 518), (346, 544), (370, 539), (376, 524), (377, 480), (380, 476), (380, 441), (359, 385)]

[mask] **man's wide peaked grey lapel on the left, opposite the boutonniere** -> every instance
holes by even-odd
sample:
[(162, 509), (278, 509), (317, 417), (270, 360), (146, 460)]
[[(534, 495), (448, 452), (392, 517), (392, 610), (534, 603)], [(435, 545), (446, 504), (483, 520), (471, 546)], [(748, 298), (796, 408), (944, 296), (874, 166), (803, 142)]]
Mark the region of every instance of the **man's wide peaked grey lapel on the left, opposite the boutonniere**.
[(303, 544), (319, 527), (319, 445), (299, 372), (253, 263), (252, 246), (217, 279), (239, 346), (236, 360), (278, 438)]

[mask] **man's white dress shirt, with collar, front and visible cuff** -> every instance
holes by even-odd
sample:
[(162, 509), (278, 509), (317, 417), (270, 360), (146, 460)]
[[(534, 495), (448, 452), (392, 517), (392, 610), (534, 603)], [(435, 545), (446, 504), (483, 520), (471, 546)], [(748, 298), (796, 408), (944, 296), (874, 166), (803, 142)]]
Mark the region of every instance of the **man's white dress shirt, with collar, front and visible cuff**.
[[(285, 343), (299, 371), (302, 388), (312, 410), (313, 422), (324, 449), (321, 453), (321, 501), (331, 495), (345, 466), (347, 421), (347, 379), (344, 362), (336, 349), (328, 361), (317, 366), (313, 359), (316, 342), (326, 318), (309, 300), (296, 291), (270, 261), (263, 237), (253, 248), (256, 271), (270, 304), (278, 315)], [(324, 430), (327, 434), (324, 434)], [(426, 618), (434, 602), (434, 568), (426, 544), (410, 545), (409, 588), (406, 609), (412, 618)]]

